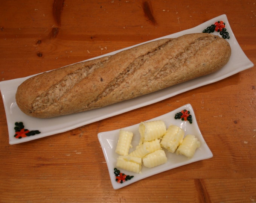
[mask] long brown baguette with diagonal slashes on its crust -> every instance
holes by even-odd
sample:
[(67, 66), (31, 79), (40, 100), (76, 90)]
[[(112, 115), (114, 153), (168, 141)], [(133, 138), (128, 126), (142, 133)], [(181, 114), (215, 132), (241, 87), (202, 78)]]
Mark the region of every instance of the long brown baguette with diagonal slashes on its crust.
[(30, 77), (16, 101), (38, 118), (87, 111), (213, 73), (230, 55), (229, 43), (208, 33), (160, 39)]

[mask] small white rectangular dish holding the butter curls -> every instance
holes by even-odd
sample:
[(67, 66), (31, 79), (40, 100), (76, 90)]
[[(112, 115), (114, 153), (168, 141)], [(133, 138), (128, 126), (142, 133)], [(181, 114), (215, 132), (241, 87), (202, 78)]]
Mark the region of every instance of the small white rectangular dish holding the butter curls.
[[(182, 121), (181, 119), (176, 120), (174, 118), (175, 114), (181, 112), (184, 109), (190, 111), (190, 115), (192, 115), (192, 124), (190, 124), (189, 121)], [(104, 156), (105, 156), (105, 159), (107, 162), (107, 167), (108, 167), (108, 171), (110, 174), (110, 180), (111, 180), (111, 183), (112, 183), (114, 189), (122, 188), (122, 187), (130, 185), (131, 183), (134, 183), (138, 180), (144, 179), (149, 176), (153, 176), (157, 173), (162, 173), (163, 171), (167, 171), (172, 168), (177, 168), (182, 165), (190, 164), (192, 162), (212, 158), (212, 156), (213, 156), (212, 152), (210, 151), (209, 147), (207, 146), (206, 142), (204, 141), (204, 138), (203, 138), (203, 136), (200, 132), (200, 129), (197, 125), (195, 113), (190, 104), (181, 106), (180, 108), (175, 109), (172, 112), (169, 112), (167, 114), (153, 118), (148, 121), (153, 121), (153, 120), (164, 121), (166, 124), (166, 127), (169, 127), (170, 124), (180, 126), (185, 131), (185, 136), (187, 134), (192, 134), (198, 138), (198, 140), (201, 142), (200, 148), (198, 148), (196, 150), (195, 155), (191, 159), (187, 159), (183, 155), (176, 155), (176, 153), (169, 153), (167, 150), (165, 150), (166, 156), (168, 158), (167, 163), (159, 165), (154, 168), (146, 168), (145, 166), (142, 165), (142, 170), (141, 170), (140, 174), (117, 168), (118, 170), (120, 170), (121, 173), (125, 173), (126, 175), (134, 176), (131, 180), (127, 180), (123, 183), (117, 183), (116, 176), (114, 174), (114, 168), (116, 168), (116, 159), (119, 156), (117, 153), (115, 153), (115, 150), (116, 150), (116, 145), (117, 145), (117, 141), (119, 138), (119, 130), (120, 129), (98, 133), (99, 142), (101, 144), (102, 151), (104, 153)], [(134, 134), (133, 140), (131, 142), (131, 145), (133, 146), (133, 148), (130, 148), (130, 151), (129, 151), (129, 153), (130, 153), (139, 144), (139, 140), (140, 140), (139, 124), (125, 127), (123, 129), (131, 131)]]

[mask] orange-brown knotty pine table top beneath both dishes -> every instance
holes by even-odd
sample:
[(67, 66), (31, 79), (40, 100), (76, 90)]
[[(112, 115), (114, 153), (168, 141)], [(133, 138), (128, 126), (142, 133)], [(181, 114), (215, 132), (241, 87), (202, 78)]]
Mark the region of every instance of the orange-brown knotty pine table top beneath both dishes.
[[(69, 65), (226, 14), (256, 64), (253, 0), (6, 0), (0, 80)], [(114, 190), (98, 141), (190, 103), (213, 158)], [(0, 101), (0, 202), (256, 202), (256, 69), (68, 132), (9, 145)]]

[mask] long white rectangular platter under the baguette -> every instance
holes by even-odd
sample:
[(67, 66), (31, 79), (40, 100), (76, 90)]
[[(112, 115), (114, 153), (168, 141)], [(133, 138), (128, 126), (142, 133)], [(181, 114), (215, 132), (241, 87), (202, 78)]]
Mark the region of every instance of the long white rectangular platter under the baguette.
[[(196, 79), (193, 79), (175, 86), (171, 86), (169, 88), (166, 88), (157, 92), (153, 92), (151, 94), (143, 95), (131, 100), (126, 100), (124, 102), (119, 102), (103, 108), (93, 109), (90, 111), (85, 111), (77, 114), (64, 115), (64, 116), (55, 117), (55, 118), (47, 118), (47, 119), (30, 117), (24, 114), (23, 112), (21, 112), (20, 109), (18, 108), (17, 103), (15, 101), (15, 93), (17, 91), (18, 86), (24, 80), (32, 76), (0, 82), (0, 90), (2, 93), (3, 104), (5, 107), (6, 120), (8, 123), (9, 144), (18, 144), (21, 142), (27, 142), (34, 139), (43, 138), (49, 135), (66, 132), (68, 130), (75, 129), (77, 127), (84, 126), (86, 124), (90, 124), (105, 118), (112, 117), (114, 115), (122, 114), (124, 112), (128, 112), (133, 109), (140, 108), (142, 106), (146, 106), (155, 102), (162, 101), (166, 98), (173, 97), (174, 95), (180, 94), (182, 92), (186, 92), (190, 89), (194, 89), (203, 85), (207, 85), (207, 84), (222, 80), (240, 71), (253, 67), (253, 63), (247, 58), (247, 56), (244, 54), (241, 47), (239, 46), (238, 42), (236, 41), (235, 35), (232, 32), (232, 29), (230, 27), (230, 24), (225, 14), (220, 15), (216, 18), (213, 18), (194, 28), (183, 30), (181, 32), (163, 36), (157, 39), (175, 38), (188, 33), (199, 33), (199, 32), (202, 32), (204, 29), (206, 29), (206, 27), (215, 23), (216, 21), (224, 21), (226, 23), (226, 29), (230, 35), (230, 39), (227, 39), (227, 41), (229, 42), (230, 47), (232, 49), (232, 54), (229, 62), (223, 68), (221, 68), (221, 70), (215, 73), (209, 74), (207, 76), (198, 77)], [(218, 32), (215, 32), (213, 34), (218, 35)], [(155, 41), (157, 39), (153, 39), (151, 41)], [(140, 44), (137, 44), (137, 45), (140, 45)], [(135, 47), (137, 45), (134, 45), (131, 47)], [(102, 56), (113, 55), (117, 52), (126, 50), (131, 47), (123, 48), (121, 50), (111, 52)], [(92, 59), (100, 58), (102, 56), (98, 56)], [(88, 60), (92, 60), (92, 59), (88, 59)], [(26, 129), (39, 130), (41, 133), (34, 136), (27, 136), (21, 139), (17, 139), (14, 137), (15, 122), (23, 122)]]

